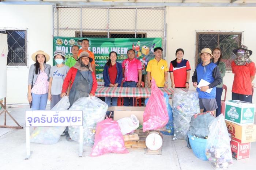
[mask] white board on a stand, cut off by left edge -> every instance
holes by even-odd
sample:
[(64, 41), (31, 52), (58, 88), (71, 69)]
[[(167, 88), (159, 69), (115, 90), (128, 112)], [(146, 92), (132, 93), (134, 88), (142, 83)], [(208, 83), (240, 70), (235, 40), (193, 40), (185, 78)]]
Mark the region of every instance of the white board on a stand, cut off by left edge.
[(7, 54), (7, 34), (0, 33), (0, 99), (6, 97)]

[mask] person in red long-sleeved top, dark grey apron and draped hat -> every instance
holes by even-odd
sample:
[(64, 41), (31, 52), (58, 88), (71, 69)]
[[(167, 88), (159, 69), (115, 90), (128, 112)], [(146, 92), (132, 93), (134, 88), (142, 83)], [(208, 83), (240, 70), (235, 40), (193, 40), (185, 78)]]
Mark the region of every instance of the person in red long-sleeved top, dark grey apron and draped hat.
[(61, 97), (66, 96), (69, 82), (71, 81), (69, 103), (70, 107), (80, 97), (94, 96), (97, 89), (97, 81), (94, 76), (91, 62), (93, 58), (84, 51), (80, 53), (80, 57), (76, 59), (76, 63), (67, 73), (63, 82)]

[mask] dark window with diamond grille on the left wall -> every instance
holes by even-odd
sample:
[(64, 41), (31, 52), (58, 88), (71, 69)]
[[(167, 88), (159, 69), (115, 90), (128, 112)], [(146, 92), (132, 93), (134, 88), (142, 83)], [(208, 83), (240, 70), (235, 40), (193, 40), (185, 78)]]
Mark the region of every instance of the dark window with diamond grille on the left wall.
[(26, 30), (0, 30), (7, 34), (8, 66), (27, 66), (27, 31)]

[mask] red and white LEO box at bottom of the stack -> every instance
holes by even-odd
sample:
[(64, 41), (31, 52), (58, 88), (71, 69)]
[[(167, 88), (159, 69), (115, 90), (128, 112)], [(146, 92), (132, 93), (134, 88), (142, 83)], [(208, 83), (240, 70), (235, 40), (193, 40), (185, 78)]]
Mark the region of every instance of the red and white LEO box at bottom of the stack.
[(251, 143), (230, 141), (232, 157), (236, 160), (250, 158)]

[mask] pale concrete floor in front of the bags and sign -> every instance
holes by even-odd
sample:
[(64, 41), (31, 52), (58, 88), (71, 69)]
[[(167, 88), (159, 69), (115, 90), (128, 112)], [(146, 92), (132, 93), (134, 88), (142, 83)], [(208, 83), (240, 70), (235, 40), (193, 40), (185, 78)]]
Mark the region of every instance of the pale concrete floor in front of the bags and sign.
[[(27, 105), (11, 105), (8, 111), (22, 126), (25, 124)], [(0, 116), (3, 125), (4, 116)], [(7, 115), (7, 125), (15, 123)], [(64, 137), (52, 145), (31, 143), (33, 153), (26, 156), (25, 129), (0, 128), (0, 170), (208, 170), (213, 169), (208, 161), (201, 161), (187, 148), (185, 140), (172, 140), (164, 135), (162, 155), (146, 155), (143, 151), (128, 154), (105, 154), (89, 157), (91, 148), (84, 147), (84, 157), (78, 157), (79, 144), (68, 142)], [(236, 161), (231, 170), (255, 169), (256, 142), (251, 144), (251, 158)]]

